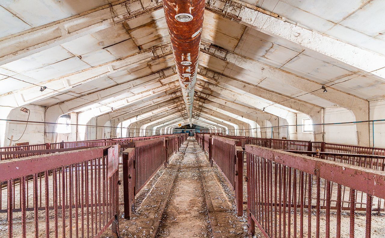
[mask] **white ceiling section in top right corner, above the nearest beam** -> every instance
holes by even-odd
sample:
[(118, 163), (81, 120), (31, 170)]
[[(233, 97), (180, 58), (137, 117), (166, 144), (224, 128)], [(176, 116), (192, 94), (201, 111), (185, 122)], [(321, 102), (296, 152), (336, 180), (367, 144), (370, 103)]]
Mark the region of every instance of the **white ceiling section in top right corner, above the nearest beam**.
[(385, 26), (381, 24), (385, 18), (383, 0), (280, 0), (276, 3), (277, 0), (258, 0), (257, 5), (312, 31), (385, 55), (385, 41), (380, 40), (385, 37), (379, 34), (385, 33)]

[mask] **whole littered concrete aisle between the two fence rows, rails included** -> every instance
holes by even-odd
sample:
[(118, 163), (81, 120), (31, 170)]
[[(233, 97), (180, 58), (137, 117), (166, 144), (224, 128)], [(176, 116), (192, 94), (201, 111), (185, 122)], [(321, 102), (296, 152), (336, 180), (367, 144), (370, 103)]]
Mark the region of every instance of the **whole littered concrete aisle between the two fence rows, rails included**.
[(134, 217), (121, 218), (121, 237), (247, 237), (246, 214), (236, 216), (233, 196), (189, 137), (136, 196)]

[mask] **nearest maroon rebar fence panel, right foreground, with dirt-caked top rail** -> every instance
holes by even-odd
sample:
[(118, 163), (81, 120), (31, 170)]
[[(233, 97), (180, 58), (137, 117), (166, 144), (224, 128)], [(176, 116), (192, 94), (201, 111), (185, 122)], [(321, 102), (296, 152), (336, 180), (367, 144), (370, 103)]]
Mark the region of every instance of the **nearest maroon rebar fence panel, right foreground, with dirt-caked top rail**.
[(265, 237), (371, 237), (384, 172), (256, 145), (246, 163), (250, 234), (256, 224)]

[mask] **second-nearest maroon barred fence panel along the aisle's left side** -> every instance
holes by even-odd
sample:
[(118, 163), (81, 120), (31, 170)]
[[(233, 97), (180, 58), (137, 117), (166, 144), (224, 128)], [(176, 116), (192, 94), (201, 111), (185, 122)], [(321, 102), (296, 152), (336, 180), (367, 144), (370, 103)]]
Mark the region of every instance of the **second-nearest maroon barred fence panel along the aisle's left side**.
[(152, 176), (166, 165), (165, 138), (134, 141), (129, 144), (132, 149), (122, 152), (124, 217), (129, 219), (135, 209), (135, 195), (146, 185)]

